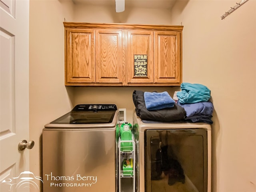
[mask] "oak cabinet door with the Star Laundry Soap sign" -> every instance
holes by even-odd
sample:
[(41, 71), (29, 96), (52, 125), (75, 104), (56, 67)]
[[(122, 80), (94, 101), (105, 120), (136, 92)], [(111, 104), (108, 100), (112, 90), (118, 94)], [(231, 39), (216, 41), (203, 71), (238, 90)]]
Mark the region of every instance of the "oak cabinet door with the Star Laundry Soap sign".
[(128, 83), (153, 83), (154, 32), (128, 31)]

